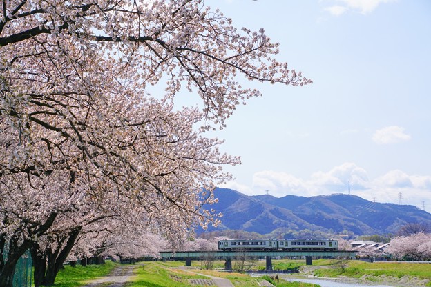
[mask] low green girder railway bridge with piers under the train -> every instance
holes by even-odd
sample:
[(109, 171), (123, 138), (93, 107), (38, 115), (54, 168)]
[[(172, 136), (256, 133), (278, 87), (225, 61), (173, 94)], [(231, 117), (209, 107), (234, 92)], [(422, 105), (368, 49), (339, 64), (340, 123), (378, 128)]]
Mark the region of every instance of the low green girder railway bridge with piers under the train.
[(247, 257), (265, 257), (267, 263), (267, 270), (272, 270), (272, 258), (273, 257), (305, 257), (307, 265), (312, 265), (313, 257), (325, 257), (325, 258), (349, 258), (354, 259), (354, 251), (179, 251), (179, 252), (161, 252), (160, 257), (162, 259), (173, 259), (173, 258), (184, 258), (186, 260), (186, 266), (191, 266), (192, 259), (224, 259), (224, 268), (226, 270), (232, 270), (232, 259)]

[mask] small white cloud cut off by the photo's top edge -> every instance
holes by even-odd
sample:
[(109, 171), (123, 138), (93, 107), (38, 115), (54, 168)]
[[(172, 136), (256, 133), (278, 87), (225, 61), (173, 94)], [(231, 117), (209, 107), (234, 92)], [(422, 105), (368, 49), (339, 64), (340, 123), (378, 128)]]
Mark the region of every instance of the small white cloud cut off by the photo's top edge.
[(333, 5), (325, 8), (325, 11), (339, 16), (347, 10), (360, 12), (361, 14), (369, 14), (373, 12), (381, 3), (390, 3), (396, 0), (337, 0), (340, 5)]

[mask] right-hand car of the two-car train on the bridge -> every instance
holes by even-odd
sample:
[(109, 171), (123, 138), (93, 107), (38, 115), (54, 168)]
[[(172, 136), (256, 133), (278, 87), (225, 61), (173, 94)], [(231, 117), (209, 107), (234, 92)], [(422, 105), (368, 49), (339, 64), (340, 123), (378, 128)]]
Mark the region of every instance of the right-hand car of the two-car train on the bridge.
[(338, 241), (323, 240), (278, 240), (278, 249), (281, 250), (338, 250)]

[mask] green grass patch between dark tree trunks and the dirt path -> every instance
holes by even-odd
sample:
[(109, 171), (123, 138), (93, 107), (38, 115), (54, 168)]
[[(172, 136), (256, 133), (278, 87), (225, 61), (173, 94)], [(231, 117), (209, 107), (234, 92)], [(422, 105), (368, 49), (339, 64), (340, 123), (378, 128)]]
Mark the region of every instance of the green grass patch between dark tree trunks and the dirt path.
[(105, 264), (88, 265), (86, 267), (77, 265), (76, 267), (64, 266), (55, 279), (55, 287), (78, 287), (83, 286), (88, 279), (94, 279), (108, 275), (113, 268), (119, 266), (118, 263), (106, 261)]

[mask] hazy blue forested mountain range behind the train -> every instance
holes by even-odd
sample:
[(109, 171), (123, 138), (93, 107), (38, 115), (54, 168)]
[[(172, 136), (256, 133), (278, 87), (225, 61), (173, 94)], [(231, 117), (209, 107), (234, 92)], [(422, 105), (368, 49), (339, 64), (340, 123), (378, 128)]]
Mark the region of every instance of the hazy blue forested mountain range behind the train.
[[(334, 194), (316, 197), (286, 195), (244, 195), (236, 190), (216, 188), (222, 224), (213, 230), (243, 230), (267, 235), (276, 232), (285, 238), (298, 232), (345, 235), (387, 235), (408, 223), (431, 225), (431, 214), (410, 205), (383, 204), (355, 195)], [(304, 235), (301, 235), (304, 237)]]

